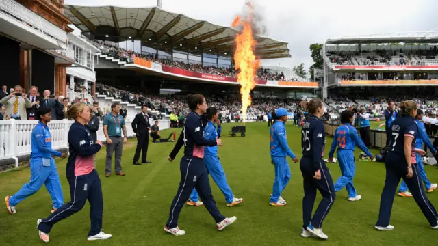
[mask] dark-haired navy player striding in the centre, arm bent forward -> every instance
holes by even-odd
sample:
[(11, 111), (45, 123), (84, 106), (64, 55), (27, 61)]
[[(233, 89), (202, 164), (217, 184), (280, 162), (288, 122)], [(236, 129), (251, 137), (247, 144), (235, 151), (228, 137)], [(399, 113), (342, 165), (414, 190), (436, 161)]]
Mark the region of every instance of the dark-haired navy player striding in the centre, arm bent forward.
[(224, 217), (216, 206), (213, 195), (211, 195), (211, 187), (208, 178), (207, 168), (204, 163), (204, 146), (222, 146), (221, 139), (205, 139), (204, 126), (201, 120), (201, 115), (207, 110), (207, 102), (201, 94), (188, 95), (187, 103), (190, 113), (185, 119), (183, 131), (175, 144), (174, 149), (168, 156), (169, 161), (173, 161), (179, 149), (184, 146), (184, 156), (181, 158), (179, 168), (181, 170), (181, 181), (177, 195), (173, 198), (170, 206), (169, 219), (164, 226), (164, 230), (175, 236), (182, 236), (185, 231), (178, 227), (178, 217), (181, 209), (190, 197), (193, 188), (198, 191), (205, 208), (216, 221), (216, 228), (223, 230), (231, 225), (237, 218)]

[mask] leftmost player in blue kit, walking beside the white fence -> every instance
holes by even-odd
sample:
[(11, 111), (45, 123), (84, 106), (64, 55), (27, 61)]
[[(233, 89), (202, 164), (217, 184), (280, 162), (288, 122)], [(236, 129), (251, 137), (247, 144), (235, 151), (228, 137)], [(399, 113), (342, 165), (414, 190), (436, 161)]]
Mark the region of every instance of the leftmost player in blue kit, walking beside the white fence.
[(52, 137), (49, 126), (47, 126), (52, 118), (51, 110), (38, 110), (36, 118), (40, 121), (32, 130), (31, 136), (30, 182), (24, 184), (20, 191), (14, 195), (5, 198), (6, 208), (12, 214), (16, 213), (15, 206), (39, 191), (42, 184), (46, 185), (51, 196), (53, 202), (52, 213), (64, 204), (60, 176), (57, 174), (57, 168), (52, 156), (66, 158), (67, 154), (52, 148)]

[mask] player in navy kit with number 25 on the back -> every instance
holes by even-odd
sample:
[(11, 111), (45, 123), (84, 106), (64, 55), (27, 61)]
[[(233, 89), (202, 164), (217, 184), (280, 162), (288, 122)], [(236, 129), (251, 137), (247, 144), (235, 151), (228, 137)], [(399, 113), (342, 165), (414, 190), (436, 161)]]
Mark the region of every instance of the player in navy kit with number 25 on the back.
[[(302, 199), (302, 237), (318, 236), (322, 239), (329, 238), (322, 232), (322, 221), (329, 214), (335, 202), (336, 192), (333, 187), (329, 169), (322, 160), (324, 156), (325, 132), (321, 118), (324, 114), (324, 105), (320, 99), (305, 102), (309, 116), (306, 118), (301, 130), (302, 159), (300, 169), (304, 185), (304, 198)], [(320, 191), (322, 200), (312, 218), (313, 204), (315, 204), (316, 191)]]

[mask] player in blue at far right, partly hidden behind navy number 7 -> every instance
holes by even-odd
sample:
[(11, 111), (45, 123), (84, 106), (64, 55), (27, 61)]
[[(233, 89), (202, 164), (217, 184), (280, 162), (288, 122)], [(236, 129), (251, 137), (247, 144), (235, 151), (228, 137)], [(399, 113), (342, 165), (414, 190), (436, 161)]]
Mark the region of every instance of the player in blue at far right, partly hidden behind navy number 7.
[[(424, 144), (430, 149), (431, 152), (437, 154), (437, 150), (433, 147), (432, 143), (430, 143), (429, 136), (426, 133), (426, 128), (424, 127), (423, 120), (423, 111), (421, 109), (417, 110), (417, 117), (415, 118), (415, 122), (417, 122), (418, 126), (418, 136), (417, 141), (415, 141), (415, 148), (416, 149), (422, 149), (423, 148), (423, 141)], [(426, 176), (426, 171), (424, 171), (424, 164), (422, 161), (422, 156), (419, 153), (415, 153), (415, 159), (417, 161), (417, 167), (418, 172), (420, 172), (421, 178), (424, 182), (424, 186), (426, 187), (426, 192), (430, 193), (434, 189), (437, 189), (438, 184), (432, 184), (428, 180)], [(412, 194), (408, 191), (408, 187), (406, 185), (406, 182), (402, 181), (402, 184), (400, 185), (400, 189), (398, 189), (397, 195), (400, 195), (402, 197), (411, 197)]]

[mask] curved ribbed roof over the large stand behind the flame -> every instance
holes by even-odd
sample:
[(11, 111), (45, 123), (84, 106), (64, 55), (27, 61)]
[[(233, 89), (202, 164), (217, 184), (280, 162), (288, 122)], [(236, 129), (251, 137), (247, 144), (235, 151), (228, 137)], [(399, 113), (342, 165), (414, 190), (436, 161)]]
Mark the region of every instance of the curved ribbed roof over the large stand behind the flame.
[[(222, 27), (158, 7), (65, 5), (65, 16), (94, 38), (120, 42), (142, 40), (142, 45), (170, 52), (211, 53), (229, 56), (234, 50), (236, 29)], [(291, 57), (287, 42), (257, 37), (256, 55), (261, 59)], [(228, 54), (228, 55), (227, 55)]]

